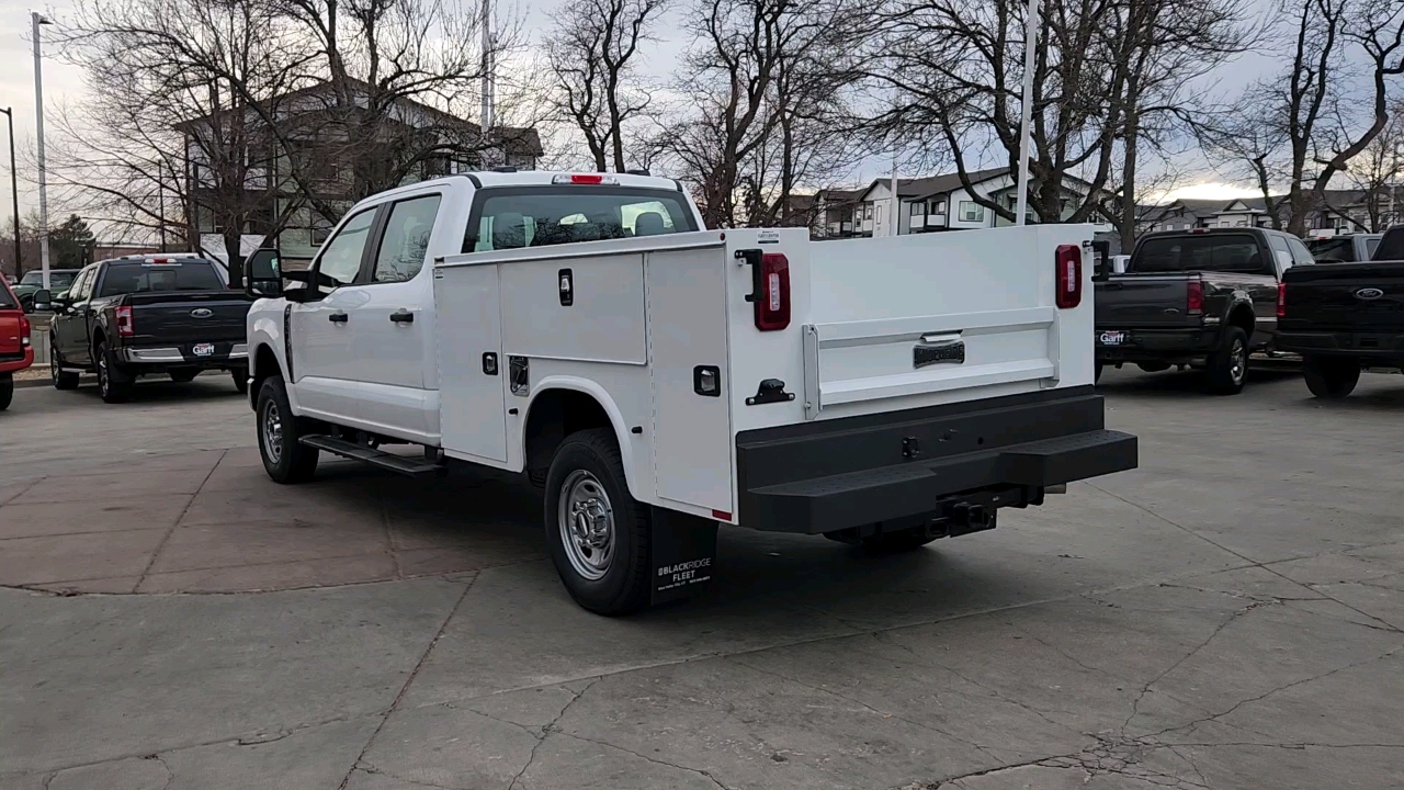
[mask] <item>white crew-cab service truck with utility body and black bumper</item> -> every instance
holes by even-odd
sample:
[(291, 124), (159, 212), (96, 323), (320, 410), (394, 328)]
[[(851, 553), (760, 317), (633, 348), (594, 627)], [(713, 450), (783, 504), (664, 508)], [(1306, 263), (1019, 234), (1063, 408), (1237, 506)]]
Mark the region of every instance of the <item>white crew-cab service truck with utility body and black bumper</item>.
[(525, 472), (604, 614), (703, 589), (717, 523), (914, 548), (1136, 465), (1092, 392), (1090, 259), (1084, 225), (812, 243), (706, 231), (667, 179), (424, 181), (307, 271), (251, 257), (258, 447), (278, 482), (319, 451)]

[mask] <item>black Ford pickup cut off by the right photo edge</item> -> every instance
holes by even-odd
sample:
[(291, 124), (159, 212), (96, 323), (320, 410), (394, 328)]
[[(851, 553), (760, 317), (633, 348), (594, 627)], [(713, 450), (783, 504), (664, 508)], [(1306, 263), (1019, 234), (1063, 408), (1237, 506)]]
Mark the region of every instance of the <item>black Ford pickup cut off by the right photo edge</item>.
[(1278, 347), (1302, 354), (1317, 398), (1345, 398), (1360, 370), (1404, 368), (1404, 225), (1384, 233), (1369, 261), (1289, 271)]

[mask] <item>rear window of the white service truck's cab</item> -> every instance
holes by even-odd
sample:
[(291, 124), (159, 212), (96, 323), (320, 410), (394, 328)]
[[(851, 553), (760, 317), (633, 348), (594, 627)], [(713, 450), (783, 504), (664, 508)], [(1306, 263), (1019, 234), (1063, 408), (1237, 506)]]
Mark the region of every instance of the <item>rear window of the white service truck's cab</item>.
[(682, 193), (621, 187), (483, 190), (463, 252), (545, 247), (696, 231)]

